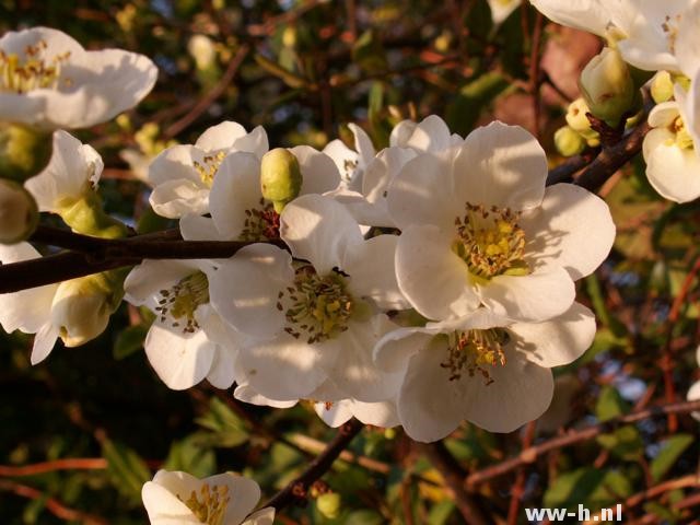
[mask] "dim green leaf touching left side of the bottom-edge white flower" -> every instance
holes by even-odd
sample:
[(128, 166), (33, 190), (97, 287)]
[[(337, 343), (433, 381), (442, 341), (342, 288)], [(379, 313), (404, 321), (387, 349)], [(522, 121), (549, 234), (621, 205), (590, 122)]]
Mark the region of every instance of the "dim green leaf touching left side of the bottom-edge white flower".
[(107, 459), (107, 472), (113, 485), (132, 503), (141, 501), (141, 488), (151, 479), (151, 471), (141, 457), (122, 443), (105, 440), (102, 456)]

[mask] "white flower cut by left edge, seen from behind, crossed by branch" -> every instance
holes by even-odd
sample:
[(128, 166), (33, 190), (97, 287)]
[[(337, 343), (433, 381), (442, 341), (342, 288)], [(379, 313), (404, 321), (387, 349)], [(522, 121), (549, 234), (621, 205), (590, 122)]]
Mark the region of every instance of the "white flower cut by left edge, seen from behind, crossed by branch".
[[(28, 243), (0, 245), (2, 264), (40, 257)], [(44, 361), (61, 338), (67, 347), (83, 345), (104, 331), (121, 300), (118, 275), (81, 277), (59, 284), (0, 294), (0, 325), (7, 332), (36, 334), (31, 362)]]

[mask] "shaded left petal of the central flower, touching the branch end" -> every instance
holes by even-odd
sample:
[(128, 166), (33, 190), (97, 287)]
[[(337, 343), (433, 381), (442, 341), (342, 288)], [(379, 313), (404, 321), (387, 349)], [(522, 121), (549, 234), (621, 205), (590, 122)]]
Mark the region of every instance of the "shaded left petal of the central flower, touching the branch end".
[(211, 304), (235, 329), (262, 338), (282, 330), (285, 319), (277, 307), (278, 295), (294, 279), (285, 250), (269, 244), (246, 246), (208, 277)]

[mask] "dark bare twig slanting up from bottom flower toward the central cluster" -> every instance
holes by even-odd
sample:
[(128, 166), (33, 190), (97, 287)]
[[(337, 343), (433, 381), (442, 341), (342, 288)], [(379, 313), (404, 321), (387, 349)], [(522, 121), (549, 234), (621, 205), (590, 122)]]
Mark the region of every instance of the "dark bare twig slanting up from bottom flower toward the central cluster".
[(306, 470), (290, 481), (282, 490), (265, 503), (262, 508), (273, 506), (275, 510), (279, 511), (295, 500), (306, 498), (308, 488), (330, 469), (334, 462), (363, 428), (364, 424), (357, 419), (351, 419), (340, 427), (336, 436), (326, 445), (324, 452), (306, 467)]

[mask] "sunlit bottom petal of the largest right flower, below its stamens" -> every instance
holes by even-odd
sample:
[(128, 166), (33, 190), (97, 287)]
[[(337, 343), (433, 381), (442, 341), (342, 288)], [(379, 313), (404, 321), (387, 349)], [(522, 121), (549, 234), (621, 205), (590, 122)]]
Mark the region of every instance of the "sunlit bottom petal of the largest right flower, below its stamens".
[(573, 304), (573, 281), (562, 268), (529, 276), (497, 276), (479, 287), (481, 302), (498, 315), (538, 322), (563, 314)]

